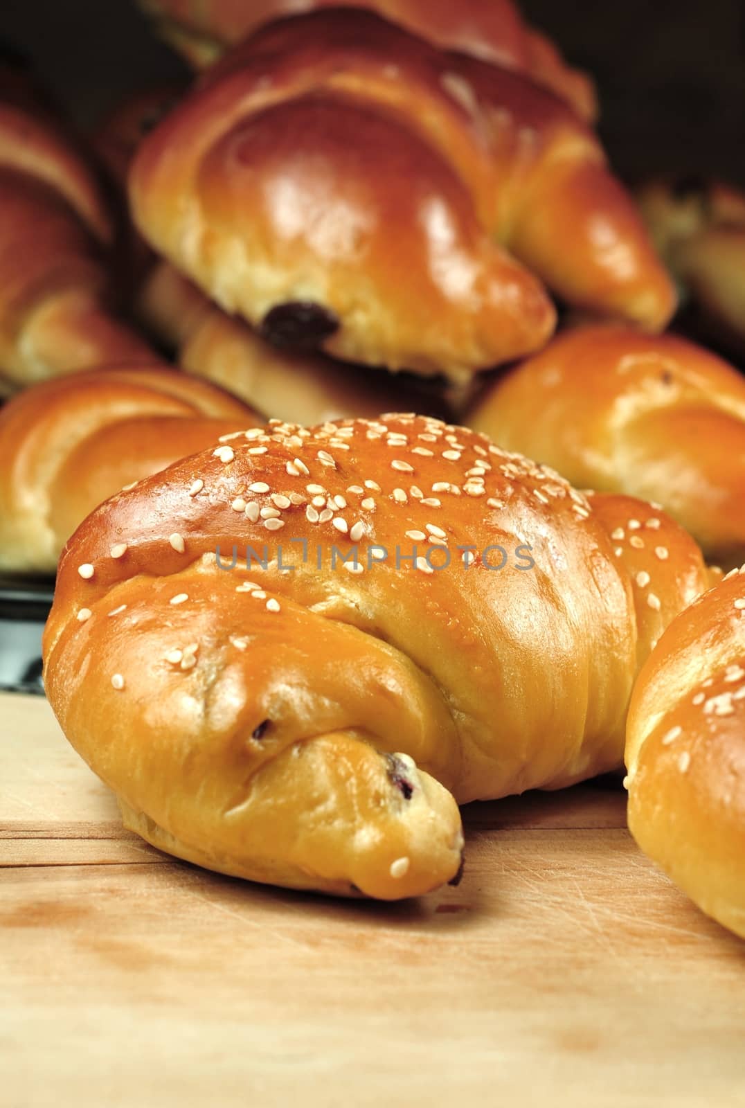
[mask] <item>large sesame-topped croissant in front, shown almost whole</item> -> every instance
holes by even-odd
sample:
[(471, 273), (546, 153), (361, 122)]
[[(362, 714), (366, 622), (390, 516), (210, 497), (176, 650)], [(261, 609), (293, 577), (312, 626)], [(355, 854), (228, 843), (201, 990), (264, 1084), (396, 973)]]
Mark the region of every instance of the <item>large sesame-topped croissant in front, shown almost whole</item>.
[(273, 421), (82, 524), (45, 689), (149, 842), (392, 900), (457, 876), (456, 801), (618, 767), (637, 666), (707, 585), (649, 504), (466, 428)]

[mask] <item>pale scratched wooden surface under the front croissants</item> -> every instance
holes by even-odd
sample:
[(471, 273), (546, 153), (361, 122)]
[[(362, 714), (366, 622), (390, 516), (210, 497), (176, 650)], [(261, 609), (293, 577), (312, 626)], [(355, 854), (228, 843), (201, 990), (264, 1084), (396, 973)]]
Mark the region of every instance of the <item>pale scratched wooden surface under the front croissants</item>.
[(0, 1105), (745, 1105), (745, 943), (623, 794), (466, 812), (458, 889), (264, 889), (121, 829), (41, 699), (0, 696)]

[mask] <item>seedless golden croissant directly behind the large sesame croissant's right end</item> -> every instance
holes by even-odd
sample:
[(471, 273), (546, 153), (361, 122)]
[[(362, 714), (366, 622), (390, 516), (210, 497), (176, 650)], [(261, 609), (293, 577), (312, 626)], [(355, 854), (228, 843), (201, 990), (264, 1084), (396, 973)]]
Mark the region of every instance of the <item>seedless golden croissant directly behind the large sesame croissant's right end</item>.
[(466, 421), (580, 488), (659, 501), (712, 561), (745, 557), (745, 381), (685, 339), (567, 331)]

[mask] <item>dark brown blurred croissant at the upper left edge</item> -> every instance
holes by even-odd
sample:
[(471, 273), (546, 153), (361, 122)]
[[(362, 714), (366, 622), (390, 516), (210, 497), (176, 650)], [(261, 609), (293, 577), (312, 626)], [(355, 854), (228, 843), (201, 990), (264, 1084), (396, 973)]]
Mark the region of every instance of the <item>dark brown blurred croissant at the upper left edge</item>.
[(109, 310), (110, 217), (90, 168), (0, 64), (0, 387), (152, 357)]

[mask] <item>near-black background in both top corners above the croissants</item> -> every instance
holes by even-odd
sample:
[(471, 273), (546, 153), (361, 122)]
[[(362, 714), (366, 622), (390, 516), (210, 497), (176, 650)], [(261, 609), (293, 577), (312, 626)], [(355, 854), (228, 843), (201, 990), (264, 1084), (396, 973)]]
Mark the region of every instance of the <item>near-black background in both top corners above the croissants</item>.
[[(452, 0), (457, 3), (458, 0)], [(598, 81), (618, 171), (705, 173), (745, 185), (745, 0), (523, 0), (532, 22)], [(0, 0), (21, 47), (82, 123), (182, 73), (134, 0)]]

